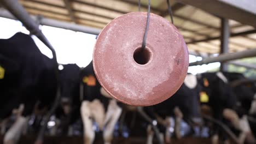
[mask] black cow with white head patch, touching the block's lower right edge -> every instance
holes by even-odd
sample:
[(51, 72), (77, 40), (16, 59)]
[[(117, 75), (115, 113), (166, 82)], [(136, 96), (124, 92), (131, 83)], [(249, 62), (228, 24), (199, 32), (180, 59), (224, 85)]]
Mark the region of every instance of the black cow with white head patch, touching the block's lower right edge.
[(200, 114), (199, 93), (200, 85), (197, 83), (195, 75), (188, 74), (185, 77), (184, 83), (178, 91), (167, 100), (160, 104), (145, 107), (144, 110), (148, 115), (157, 119), (159, 123), (166, 127), (166, 142), (170, 142), (171, 117), (175, 117), (174, 131), (176, 137), (180, 139), (181, 121), (184, 119), (187, 123), (202, 124)]

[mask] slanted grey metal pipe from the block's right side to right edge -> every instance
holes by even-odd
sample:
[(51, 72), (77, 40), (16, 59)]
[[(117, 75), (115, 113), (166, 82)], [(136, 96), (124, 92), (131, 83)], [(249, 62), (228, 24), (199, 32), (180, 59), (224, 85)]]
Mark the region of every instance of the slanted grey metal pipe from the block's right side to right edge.
[(236, 53), (226, 53), (226, 54), (219, 55), (218, 57), (204, 58), (202, 59), (202, 61), (189, 63), (189, 66), (202, 65), (202, 64), (208, 64), (208, 63), (214, 63), (214, 62), (227, 62), (235, 59), (255, 57), (255, 56), (256, 56), (256, 49), (252, 49), (252, 50), (246, 50), (246, 51), (241, 51)]

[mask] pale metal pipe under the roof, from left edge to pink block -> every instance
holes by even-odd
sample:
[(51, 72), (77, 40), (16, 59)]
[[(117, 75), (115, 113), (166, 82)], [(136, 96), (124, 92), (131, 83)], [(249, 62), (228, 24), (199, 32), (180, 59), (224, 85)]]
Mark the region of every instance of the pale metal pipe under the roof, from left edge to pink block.
[[(10, 14), (9, 11), (7, 10), (0, 10), (0, 17), (6, 17), (8, 19), (16, 20), (16, 17)], [(36, 20), (36, 16), (31, 16), (31, 17), (32, 19)], [(98, 35), (101, 32), (101, 29), (98, 29), (98, 28), (80, 26), (80, 25), (75, 25), (74, 23), (62, 22), (62, 21), (57, 21), (57, 20), (47, 19), (47, 18), (43, 18), (42, 20), (40, 20), (40, 24), (45, 26), (70, 29), (72, 31), (95, 34), (95, 35)]]

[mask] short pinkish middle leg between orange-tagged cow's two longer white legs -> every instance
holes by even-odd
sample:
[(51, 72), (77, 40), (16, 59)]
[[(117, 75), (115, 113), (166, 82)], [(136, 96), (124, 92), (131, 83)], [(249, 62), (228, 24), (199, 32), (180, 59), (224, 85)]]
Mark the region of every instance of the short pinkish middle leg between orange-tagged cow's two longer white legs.
[(105, 111), (104, 106), (100, 100), (95, 99), (90, 103), (90, 112), (100, 130), (103, 130), (104, 127), (104, 119), (105, 119)]

